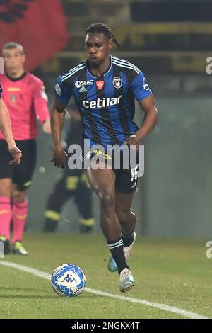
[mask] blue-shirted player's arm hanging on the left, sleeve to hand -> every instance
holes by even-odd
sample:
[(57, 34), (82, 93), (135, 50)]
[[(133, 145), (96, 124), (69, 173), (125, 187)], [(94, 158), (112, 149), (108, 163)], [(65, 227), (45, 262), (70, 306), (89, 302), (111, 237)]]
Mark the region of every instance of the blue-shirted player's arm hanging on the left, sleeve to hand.
[(61, 82), (61, 76), (57, 79), (55, 86), (55, 98), (52, 106), (51, 113), (51, 131), (53, 141), (53, 158), (55, 166), (64, 168), (66, 163), (67, 154), (61, 145), (61, 130), (64, 125), (64, 118), (66, 114), (66, 105), (71, 98), (71, 91), (67, 89)]

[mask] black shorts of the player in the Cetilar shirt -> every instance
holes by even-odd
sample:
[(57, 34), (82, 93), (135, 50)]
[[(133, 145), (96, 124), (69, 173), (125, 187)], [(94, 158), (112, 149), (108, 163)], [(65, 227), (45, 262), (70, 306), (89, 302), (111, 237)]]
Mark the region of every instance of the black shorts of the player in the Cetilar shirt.
[[(127, 157), (128, 159), (128, 168), (126, 169), (126, 166), (124, 166), (124, 154), (121, 151), (120, 152), (120, 164), (117, 167), (117, 164), (114, 163), (114, 153), (106, 153), (102, 152), (100, 150), (90, 150), (86, 154), (85, 157), (83, 157), (84, 166), (86, 168), (86, 160), (92, 161), (93, 158), (98, 159), (99, 161), (104, 161), (105, 164), (109, 162), (109, 164), (112, 166), (112, 170), (114, 171), (116, 175), (115, 180), (115, 190), (119, 193), (124, 194), (130, 194), (134, 193), (136, 190), (137, 184), (138, 184), (138, 178), (139, 178), (139, 153), (134, 154), (134, 160), (129, 161), (129, 155)], [(125, 159), (126, 161), (126, 159)]]

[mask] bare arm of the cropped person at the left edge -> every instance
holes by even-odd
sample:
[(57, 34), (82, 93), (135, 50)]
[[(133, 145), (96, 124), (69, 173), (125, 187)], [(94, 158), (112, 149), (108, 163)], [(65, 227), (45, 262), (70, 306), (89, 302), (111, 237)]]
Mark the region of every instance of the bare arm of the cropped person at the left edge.
[(5, 140), (8, 144), (8, 151), (14, 157), (14, 159), (10, 161), (9, 164), (16, 165), (20, 163), (22, 154), (18, 149), (18, 147), (16, 147), (16, 142), (13, 139), (10, 116), (8, 113), (8, 109), (4, 104), (4, 101), (2, 101), (1, 94), (2, 94), (2, 88), (0, 84), (0, 130), (4, 135)]

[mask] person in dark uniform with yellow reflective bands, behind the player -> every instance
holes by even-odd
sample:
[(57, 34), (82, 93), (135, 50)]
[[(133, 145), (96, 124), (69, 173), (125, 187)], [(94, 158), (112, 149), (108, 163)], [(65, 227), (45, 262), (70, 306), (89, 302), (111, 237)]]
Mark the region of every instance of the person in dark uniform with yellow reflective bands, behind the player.
[[(81, 116), (76, 106), (71, 107), (69, 114), (71, 115), (71, 125), (66, 138), (67, 148), (70, 145), (81, 147), (83, 145), (83, 127)], [(69, 198), (74, 198), (78, 213), (80, 214), (80, 232), (87, 233), (93, 231), (95, 220), (93, 218), (92, 193), (86, 174), (83, 169), (71, 170), (66, 166), (47, 201), (44, 224), (45, 232), (54, 232), (57, 230), (61, 210)]]

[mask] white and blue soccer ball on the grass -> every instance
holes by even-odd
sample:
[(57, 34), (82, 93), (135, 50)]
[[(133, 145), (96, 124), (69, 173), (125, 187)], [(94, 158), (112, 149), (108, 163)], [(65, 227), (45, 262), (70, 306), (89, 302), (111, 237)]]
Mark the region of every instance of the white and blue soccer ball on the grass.
[(52, 288), (61, 296), (76, 297), (86, 286), (86, 276), (80, 267), (62, 264), (52, 273)]

